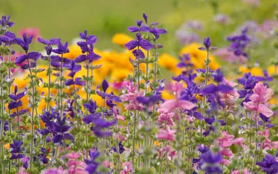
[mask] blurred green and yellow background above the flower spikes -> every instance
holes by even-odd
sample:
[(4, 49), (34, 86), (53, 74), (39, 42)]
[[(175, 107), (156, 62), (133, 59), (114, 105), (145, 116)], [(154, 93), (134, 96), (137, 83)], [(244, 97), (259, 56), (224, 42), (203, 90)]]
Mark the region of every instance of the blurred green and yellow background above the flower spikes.
[[(142, 20), (142, 13), (146, 13), (150, 22), (159, 22), (159, 27), (167, 30), (159, 39), (164, 45), (160, 52), (175, 58), (183, 47), (202, 43), (206, 36), (213, 46), (227, 48), (227, 36), (240, 34), (248, 26), (256, 43), (248, 51), (248, 63), (266, 68), (265, 60), (275, 55), (270, 34), (272, 28), (278, 28), (275, 3), (277, 0), (0, 0), (0, 15), (11, 15), (15, 22), (11, 31), (17, 35), (31, 28), (42, 38), (62, 38), (71, 43), (79, 32), (88, 29), (88, 33), (97, 35), (97, 49), (120, 51), (122, 47), (112, 42), (113, 36), (124, 33), (134, 38), (127, 27), (136, 25), (136, 19)], [(38, 43), (32, 47), (43, 50)], [(221, 58), (218, 61), (229, 65)]]

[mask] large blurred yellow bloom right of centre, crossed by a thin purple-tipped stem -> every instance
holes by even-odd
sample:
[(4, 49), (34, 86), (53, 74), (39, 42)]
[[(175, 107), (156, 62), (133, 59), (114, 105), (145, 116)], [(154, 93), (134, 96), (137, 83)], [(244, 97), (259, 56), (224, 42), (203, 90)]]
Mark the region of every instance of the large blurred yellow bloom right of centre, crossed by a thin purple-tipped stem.
[[(206, 59), (206, 52), (200, 51), (198, 49), (199, 47), (201, 46), (197, 43), (187, 45), (181, 49), (180, 55), (190, 54), (191, 61), (195, 68), (205, 68), (206, 65), (204, 65), (204, 60)], [(211, 63), (209, 64), (211, 70), (216, 70), (220, 67), (219, 63), (215, 61), (215, 57), (213, 55), (210, 54), (209, 59), (211, 60)]]

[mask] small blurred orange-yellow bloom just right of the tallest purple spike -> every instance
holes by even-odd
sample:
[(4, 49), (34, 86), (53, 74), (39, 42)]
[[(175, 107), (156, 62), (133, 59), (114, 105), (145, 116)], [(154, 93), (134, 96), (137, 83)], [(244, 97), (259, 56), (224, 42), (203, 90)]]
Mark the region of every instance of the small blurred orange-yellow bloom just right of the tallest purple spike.
[(177, 68), (178, 63), (179, 61), (177, 58), (167, 53), (161, 54), (161, 56), (158, 57), (158, 65), (172, 72), (176, 72), (179, 69)]

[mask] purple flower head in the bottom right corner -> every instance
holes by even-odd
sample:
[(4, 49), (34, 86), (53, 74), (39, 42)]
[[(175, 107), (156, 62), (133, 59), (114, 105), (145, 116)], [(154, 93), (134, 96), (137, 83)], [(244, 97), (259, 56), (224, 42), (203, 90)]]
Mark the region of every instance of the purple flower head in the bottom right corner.
[(265, 155), (263, 161), (256, 162), (257, 166), (261, 167), (261, 170), (268, 174), (278, 173), (278, 162), (272, 155)]

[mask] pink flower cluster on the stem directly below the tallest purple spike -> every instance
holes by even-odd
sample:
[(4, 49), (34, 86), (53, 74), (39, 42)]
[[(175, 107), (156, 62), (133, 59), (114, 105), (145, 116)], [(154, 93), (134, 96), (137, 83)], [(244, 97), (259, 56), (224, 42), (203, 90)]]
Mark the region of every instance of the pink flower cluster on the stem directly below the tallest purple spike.
[(123, 102), (129, 102), (129, 104), (125, 104), (124, 109), (142, 111), (144, 107), (136, 101), (136, 97), (145, 96), (145, 91), (138, 92), (138, 88), (132, 83), (125, 84), (125, 87), (128, 93), (121, 95), (120, 98)]

